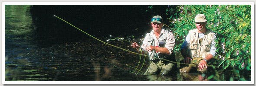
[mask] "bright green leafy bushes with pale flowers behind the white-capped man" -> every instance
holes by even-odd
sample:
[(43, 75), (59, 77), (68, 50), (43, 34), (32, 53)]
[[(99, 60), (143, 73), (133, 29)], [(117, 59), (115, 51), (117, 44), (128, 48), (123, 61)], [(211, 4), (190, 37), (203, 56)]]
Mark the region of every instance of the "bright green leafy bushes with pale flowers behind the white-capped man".
[(188, 31), (196, 28), (194, 17), (203, 13), (207, 28), (217, 32), (215, 67), (236, 73), (251, 70), (251, 5), (180, 5), (167, 8), (166, 13), (176, 38), (175, 50), (180, 50)]

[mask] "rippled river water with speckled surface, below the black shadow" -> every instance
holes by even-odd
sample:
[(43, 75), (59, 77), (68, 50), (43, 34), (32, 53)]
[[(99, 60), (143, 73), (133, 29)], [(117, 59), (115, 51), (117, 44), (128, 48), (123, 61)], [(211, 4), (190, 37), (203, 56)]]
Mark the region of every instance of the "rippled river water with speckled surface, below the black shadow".
[[(180, 74), (177, 70), (168, 76), (142, 75), (148, 67), (148, 58), (103, 44), (54, 17), (51, 17), (53, 26), (40, 25), (48, 21), (36, 18), (32, 8), (5, 6), (5, 81), (208, 81), (205, 74)], [(63, 27), (73, 30), (72, 34), (58, 29)], [(58, 35), (56, 32), (64, 35), (54, 36)], [(130, 44), (141, 42), (143, 37), (115, 35), (115, 32), (102, 34), (104, 30), (100, 35), (88, 32), (133, 52), (136, 51)], [(224, 81), (223, 76), (219, 79)]]

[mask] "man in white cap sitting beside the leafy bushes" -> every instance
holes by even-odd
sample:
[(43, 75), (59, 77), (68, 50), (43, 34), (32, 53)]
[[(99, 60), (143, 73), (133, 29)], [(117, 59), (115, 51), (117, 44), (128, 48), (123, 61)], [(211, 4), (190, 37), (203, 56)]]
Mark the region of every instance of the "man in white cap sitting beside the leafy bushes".
[(190, 30), (181, 46), (181, 54), (187, 67), (180, 69), (181, 73), (197, 70), (200, 73), (207, 71), (207, 61), (216, 55), (216, 33), (207, 29), (207, 19), (204, 14), (195, 17), (197, 29)]

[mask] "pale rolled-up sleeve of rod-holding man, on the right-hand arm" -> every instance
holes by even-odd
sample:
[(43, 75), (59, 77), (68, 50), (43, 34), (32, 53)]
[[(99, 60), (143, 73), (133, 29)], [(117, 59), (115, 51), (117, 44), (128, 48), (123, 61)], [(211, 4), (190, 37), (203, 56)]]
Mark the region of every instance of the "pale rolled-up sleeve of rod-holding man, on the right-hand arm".
[(172, 32), (167, 32), (164, 48), (167, 48), (170, 54), (174, 52), (175, 38)]

